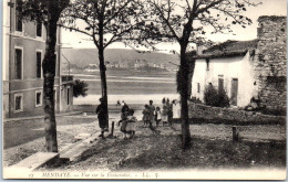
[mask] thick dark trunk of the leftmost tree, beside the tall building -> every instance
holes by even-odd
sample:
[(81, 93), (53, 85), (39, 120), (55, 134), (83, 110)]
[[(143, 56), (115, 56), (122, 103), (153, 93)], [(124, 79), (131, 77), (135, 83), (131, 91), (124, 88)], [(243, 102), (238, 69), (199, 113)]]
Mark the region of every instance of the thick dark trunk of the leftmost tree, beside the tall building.
[(56, 20), (50, 18), (47, 28), (45, 55), (42, 63), (43, 68), (43, 106), (45, 124), (47, 151), (58, 152), (56, 122), (54, 114), (54, 77), (55, 77), (55, 43)]

